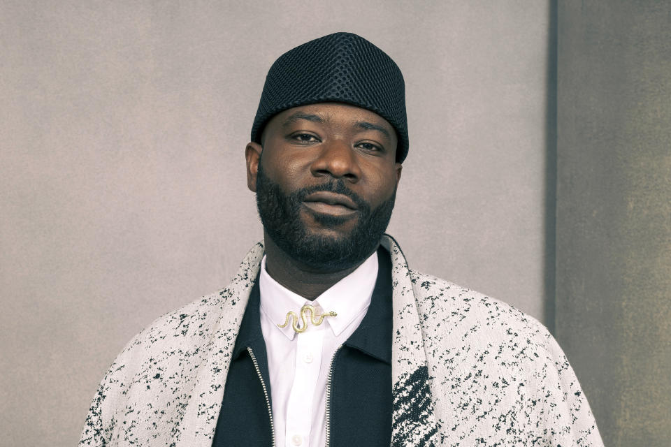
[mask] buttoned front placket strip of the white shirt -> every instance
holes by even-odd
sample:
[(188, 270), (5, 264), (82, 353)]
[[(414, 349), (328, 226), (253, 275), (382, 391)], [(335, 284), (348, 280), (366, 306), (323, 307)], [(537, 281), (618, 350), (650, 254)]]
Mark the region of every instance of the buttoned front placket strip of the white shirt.
[(296, 334), (296, 369), (287, 403), (286, 447), (310, 446), (312, 400), (322, 367), (324, 328), (308, 325), (308, 330)]

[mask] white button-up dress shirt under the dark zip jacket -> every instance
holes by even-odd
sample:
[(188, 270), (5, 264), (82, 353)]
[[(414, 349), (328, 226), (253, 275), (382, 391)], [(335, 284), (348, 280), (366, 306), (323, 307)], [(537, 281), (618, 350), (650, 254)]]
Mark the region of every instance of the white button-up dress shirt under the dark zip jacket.
[[(324, 447), (326, 444), (326, 381), (331, 358), (366, 315), (377, 279), (377, 253), (342, 278), (313, 302), (281, 286), (261, 261), (261, 332), (268, 352), (270, 398), (277, 447)], [(317, 314), (336, 312), (321, 325), (308, 321), (297, 334), (291, 321), (277, 327), (287, 312), (298, 316), (303, 305), (317, 307)], [(299, 327), (302, 323), (299, 321)]]

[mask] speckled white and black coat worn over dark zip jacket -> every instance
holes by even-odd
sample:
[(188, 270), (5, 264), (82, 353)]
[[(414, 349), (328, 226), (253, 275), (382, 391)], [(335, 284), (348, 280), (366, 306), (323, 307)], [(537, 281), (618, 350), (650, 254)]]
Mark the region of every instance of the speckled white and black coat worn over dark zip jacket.
[[(391, 237), (382, 244), (394, 283), (392, 446), (603, 446), (572, 368), (540, 323), (409, 270)], [(80, 446), (211, 446), (263, 254), (259, 243), (229, 286), (129, 342), (99, 386)]]

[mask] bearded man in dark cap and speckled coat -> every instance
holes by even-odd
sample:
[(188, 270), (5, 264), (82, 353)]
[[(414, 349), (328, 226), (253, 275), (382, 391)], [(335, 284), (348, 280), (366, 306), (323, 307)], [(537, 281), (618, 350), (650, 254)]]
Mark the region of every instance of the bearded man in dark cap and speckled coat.
[(384, 235), (409, 147), (387, 54), (347, 33), (283, 54), (251, 136), (264, 243), (129, 343), (81, 446), (603, 445), (540, 323)]

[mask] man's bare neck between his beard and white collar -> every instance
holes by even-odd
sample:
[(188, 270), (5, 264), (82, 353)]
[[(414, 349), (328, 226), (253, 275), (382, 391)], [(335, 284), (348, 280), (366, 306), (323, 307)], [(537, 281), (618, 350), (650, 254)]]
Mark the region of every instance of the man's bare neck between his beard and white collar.
[(354, 272), (363, 261), (366, 261), (366, 258), (364, 258), (354, 267), (345, 270), (322, 272), (291, 258), (280, 247), (277, 247), (265, 232), (264, 244), (266, 247), (266, 271), (270, 274), (270, 277), (307, 300), (315, 300), (331, 288), (333, 284)]

